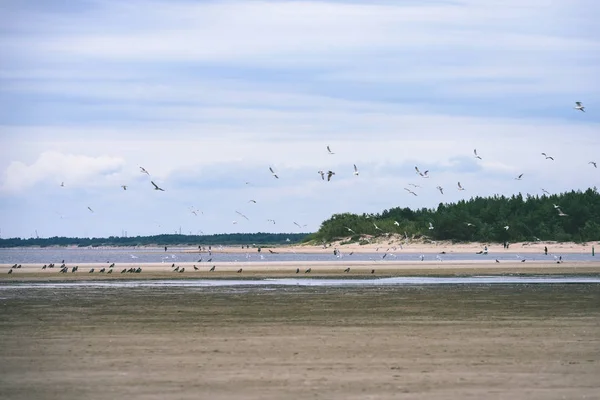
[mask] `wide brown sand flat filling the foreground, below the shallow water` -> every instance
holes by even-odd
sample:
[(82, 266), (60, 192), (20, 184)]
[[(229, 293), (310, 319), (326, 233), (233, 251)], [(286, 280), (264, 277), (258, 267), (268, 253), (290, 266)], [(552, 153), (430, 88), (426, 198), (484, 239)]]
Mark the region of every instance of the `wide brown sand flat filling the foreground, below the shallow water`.
[(598, 285), (10, 289), (6, 399), (583, 399)]

